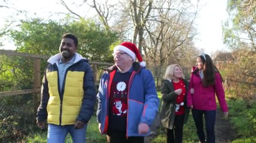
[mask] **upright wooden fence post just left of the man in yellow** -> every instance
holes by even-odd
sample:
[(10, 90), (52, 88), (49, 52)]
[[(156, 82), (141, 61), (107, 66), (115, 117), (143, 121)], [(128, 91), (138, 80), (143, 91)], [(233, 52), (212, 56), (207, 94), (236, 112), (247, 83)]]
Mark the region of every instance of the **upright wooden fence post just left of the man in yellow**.
[[(40, 88), (40, 58), (34, 58), (34, 89)], [(33, 96), (33, 102), (35, 104), (34, 112), (37, 111), (37, 107), (40, 104), (40, 93), (35, 93)]]

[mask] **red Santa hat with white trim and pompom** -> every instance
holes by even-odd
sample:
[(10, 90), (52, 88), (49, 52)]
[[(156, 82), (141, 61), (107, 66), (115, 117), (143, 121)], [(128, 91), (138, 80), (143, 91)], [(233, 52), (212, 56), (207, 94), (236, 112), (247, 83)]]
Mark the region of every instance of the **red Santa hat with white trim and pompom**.
[(114, 53), (117, 50), (122, 50), (125, 53), (127, 53), (128, 55), (130, 55), (132, 57), (133, 62), (136, 61), (136, 58), (137, 58), (138, 61), (140, 62), (140, 66), (142, 66), (142, 67), (146, 66), (146, 63), (142, 60), (142, 57), (141, 57), (141, 55), (138, 51), (138, 48), (136, 47), (135, 44), (133, 44), (131, 42), (123, 42), (114, 48)]

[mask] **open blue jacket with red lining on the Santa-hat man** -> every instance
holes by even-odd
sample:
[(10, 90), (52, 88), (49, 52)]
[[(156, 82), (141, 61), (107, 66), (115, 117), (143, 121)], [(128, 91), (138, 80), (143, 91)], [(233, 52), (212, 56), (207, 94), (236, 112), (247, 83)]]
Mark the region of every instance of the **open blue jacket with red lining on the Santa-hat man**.
[[(159, 99), (156, 94), (155, 80), (149, 70), (133, 63), (133, 71), (128, 84), (128, 111), (126, 136), (148, 136), (138, 134), (138, 124), (151, 125), (158, 111)], [(109, 97), (110, 87), (117, 67), (109, 67), (101, 77), (99, 91), (97, 94), (98, 109), (97, 120), (101, 123), (101, 133), (106, 134), (109, 123)]]

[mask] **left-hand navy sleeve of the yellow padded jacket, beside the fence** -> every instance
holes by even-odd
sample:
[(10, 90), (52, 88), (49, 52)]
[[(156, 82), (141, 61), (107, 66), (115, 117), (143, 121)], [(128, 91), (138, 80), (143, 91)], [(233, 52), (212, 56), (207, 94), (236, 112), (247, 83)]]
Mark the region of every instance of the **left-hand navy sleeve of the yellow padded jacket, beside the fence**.
[(38, 121), (45, 121), (47, 118), (47, 104), (49, 101), (49, 91), (48, 91), (48, 81), (46, 79), (46, 72), (43, 76), (43, 83), (42, 83), (42, 88), (41, 88), (41, 102), (40, 105), (37, 109), (37, 114), (36, 114), (36, 120)]

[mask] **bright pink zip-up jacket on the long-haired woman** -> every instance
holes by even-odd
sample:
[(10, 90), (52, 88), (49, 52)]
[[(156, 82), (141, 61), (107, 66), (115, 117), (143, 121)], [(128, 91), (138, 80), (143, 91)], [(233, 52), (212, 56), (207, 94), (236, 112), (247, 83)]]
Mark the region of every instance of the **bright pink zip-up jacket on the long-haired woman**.
[[(192, 67), (194, 71), (197, 67)], [(199, 75), (199, 73), (198, 73)], [(187, 105), (193, 105), (193, 109), (198, 110), (216, 110), (216, 98), (218, 98), (220, 108), (223, 112), (228, 112), (228, 106), (225, 100), (225, 93), (222, 87), (220, 73), (215, 72), (215, 82), (213, 86), (203, 87), (200, 76), (191, 73), (189, 82), (189, 92), (187, 95)], [(191, 94), (190, 89), (194, 88), (194, 93)]]

